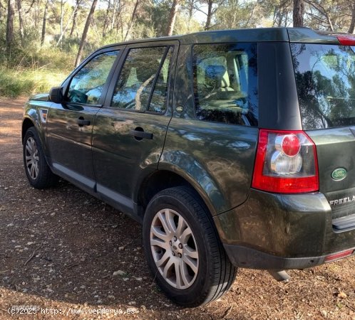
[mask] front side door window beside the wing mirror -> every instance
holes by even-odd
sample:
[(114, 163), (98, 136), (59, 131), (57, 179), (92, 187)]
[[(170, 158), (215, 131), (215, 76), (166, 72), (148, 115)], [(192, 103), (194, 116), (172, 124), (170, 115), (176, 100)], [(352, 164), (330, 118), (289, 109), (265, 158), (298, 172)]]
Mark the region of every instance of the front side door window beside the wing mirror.
[(118, 52), (119, 50), (101, 53), (86, 63), (71, 79), (68, 102), (98, 104)]

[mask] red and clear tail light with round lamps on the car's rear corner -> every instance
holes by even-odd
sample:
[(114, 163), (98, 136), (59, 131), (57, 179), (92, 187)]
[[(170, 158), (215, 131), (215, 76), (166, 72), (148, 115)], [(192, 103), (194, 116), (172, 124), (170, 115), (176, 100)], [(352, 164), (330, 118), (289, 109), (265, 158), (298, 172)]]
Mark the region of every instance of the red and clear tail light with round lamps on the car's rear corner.
[(318, 191), (314, 142), (303, 131), (260, 129), (252, 188), (275, 193)]

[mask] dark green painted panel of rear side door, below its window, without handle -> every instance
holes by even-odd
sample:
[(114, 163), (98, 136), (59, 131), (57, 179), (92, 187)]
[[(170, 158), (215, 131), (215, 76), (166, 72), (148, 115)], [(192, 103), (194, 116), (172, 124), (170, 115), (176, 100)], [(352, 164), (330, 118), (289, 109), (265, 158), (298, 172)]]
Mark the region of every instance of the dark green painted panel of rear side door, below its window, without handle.
[[(158, 167), (169, 121), (168, 114), (101, 109), (93, 127), (93, 167), (98, 191), (103, 186), (134, 198), (138, 179)], [(153, 139), (135, 139), (130, 130), (138, 127), (153, 134)]]

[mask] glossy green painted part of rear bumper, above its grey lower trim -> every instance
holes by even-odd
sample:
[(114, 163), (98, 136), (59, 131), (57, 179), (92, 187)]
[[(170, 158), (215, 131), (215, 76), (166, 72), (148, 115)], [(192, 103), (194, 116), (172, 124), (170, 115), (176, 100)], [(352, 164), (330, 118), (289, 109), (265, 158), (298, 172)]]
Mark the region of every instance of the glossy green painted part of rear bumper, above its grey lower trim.
[(252, 189), (246, 203), (217, 215), (215, 222), (222, 242), (252, 243), (282, 257), (321, 255), (325, 238), (333, 233), (331, 209), (321, 193), (282, 195)]

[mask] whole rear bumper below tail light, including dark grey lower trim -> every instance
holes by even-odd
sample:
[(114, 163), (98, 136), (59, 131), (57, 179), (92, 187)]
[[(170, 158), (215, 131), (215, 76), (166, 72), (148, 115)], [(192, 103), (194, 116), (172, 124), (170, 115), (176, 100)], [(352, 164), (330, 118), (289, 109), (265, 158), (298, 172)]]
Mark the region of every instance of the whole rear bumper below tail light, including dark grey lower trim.
[(214, 219), (227, 255), (237, 267), (304, 269), (355, 247), (355, 229), (334, 229), (322, 193), (286, 195), (252, 189), (245, 203)]

